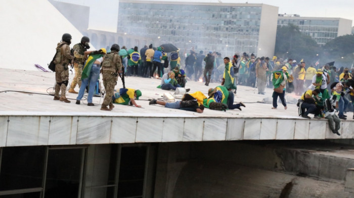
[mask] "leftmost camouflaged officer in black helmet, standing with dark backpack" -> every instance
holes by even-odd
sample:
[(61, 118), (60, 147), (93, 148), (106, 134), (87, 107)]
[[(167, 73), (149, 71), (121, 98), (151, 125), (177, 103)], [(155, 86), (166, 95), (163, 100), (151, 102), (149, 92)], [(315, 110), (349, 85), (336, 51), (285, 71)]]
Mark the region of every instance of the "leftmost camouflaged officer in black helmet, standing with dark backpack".
[[(55, 56), (55, 80), (57, 84), (55, 85), (55, 101), (63, 101), (65, 103), (70, 103), (70, 101), (65, 97), (66, 87), (69, 83), (69, 68), (68, 65), (73, 60), (73, 56), (70, 53), (70, 43), (71, 35), (68, 33), (63, 34), (62, 41), (57, 45), (57, 54)], [(59, 97), (59, 91), (61, 89), (61, 96)]]

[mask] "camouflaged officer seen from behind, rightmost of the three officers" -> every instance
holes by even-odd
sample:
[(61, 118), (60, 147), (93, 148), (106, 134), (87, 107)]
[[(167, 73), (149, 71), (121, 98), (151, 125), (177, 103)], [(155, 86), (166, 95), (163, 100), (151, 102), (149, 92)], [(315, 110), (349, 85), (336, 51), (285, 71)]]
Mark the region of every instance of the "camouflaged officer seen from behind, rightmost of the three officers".
[[(117, 84), (118, 72), (122, 73), (122, 60), (118, 55), (119, 50), (119, 45), (113, 44), (111, 52), (107, 53), (102, 63), (103, 85), (106, 89), (105, 98), (101, 106), (101, 110), (103, 111), (111, 111), (114, 108), (112, 103), (114, 87)], [(109, 108), (107, 108), (107, 106), (109, 106)]]

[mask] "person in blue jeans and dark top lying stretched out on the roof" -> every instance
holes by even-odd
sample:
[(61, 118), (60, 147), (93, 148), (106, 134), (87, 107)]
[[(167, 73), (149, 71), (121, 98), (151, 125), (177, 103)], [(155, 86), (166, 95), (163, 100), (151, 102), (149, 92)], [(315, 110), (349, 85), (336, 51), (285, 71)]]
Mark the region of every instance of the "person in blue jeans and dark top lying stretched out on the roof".
[(164, 101), (158, 101), (153, 98), (149, 102), (149, 105), (156, 105), (156, 104), (162, 105), (165, 108), (193, 111), (193, 112), (197, 112), (197, 113), (203, 113), (203, 111), (204, 111), (204, 106), (199, 104), (198, 101), (196, 100), (196, 98), (194, 98), (193, 96), (191, 96), (188, 93), (183, 95), (182, 101), (166, 103)]

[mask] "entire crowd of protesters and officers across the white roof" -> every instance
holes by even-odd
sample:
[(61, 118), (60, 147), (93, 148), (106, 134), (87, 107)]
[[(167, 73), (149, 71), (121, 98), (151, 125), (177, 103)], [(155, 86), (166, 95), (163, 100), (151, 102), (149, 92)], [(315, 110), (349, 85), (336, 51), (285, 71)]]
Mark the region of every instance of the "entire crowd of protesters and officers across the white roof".
[[(142, 95), (140, 90), (121, 88), (114, 90), (118, 76), (140, 76), (145, 78), (159, 78), (161, 83), (158, 88), (163, 90), (175, 90), (186, 88), (188, 81), (203, 81), (205, 86), (210, 82), (220, 82), (220, 86), (210, 88), (208, 96), (201, 91), (186, 93), (182, 101), (166, 103), (152, 99), (150, 105), (158, 104), (166, 108), (184, 109), (202, 113), (204, 108), (226, 111), (227, 109), (239, 109), (245, 107), (243, 103), (234, 104), (234, 94), (237, 93), (237, 85), (257, 88), (258, 94), (265, 94), (265, 87), (273, 88), (273, 108), (278, 108), (278, 97), (284, 109), (287, 109), (285, 94), (294, 92), (300, 97), (299, 115), (303, 118), (327, 118), (331, 122), (346, 119), (346, 111), (349, 104), (354, 105), (354, 69), (340, 68), (333, 65), (313, 65), (306, 67), (301, 60), (299, 64), (295, 60), (278, 59), (276, 56), (256, 57), (247, 53), (235, 54), (222, 58), (218, 52), (195, 52), (192, 48), (181, 56), (180, 50), (165, 52), (163, 46), (154, 47), (153, 44), (127, 49), (113, 44), (110, 47), (101, 48), (98, 51), (87, 51), (90, 39), (82, 37), (81, 42), (70, 50), (71, 35), (64, 34), (62, 41), (57, 45), (57, 54), (54, 57), (56, 64), (56, 87), (54, 100), (70, 103), (65, 97), (68, 85), (68, 66), (75, 69), (75, 77), (71, 83), (69, 92), (78, 93), (76, 104), (80, 104), (84, 91), (88, 90), (88, 106), (94, 106), (92, 97), (94, 87), (100, 73), (103, 75), (105, 86), (105, 99), (101, 110), (111, 111), (113, 103), (123, 105), (135, 105), (136, 99)], [(181, 59), (183, 57), (183, 59)], [(78, 84), (80, 90), (76, 92)], [(59, 91), (62, 94), (59, 97)], [(334, 108), (328, 104), (335, 104)], [(351, 101), (351, 103), (349, 103)], [(338, 115), (329, 109), (337, 109)], [(338, 119), (337, 119), (338, 118)], [(354, 119), (354, 116), (353, 116)], [(332, 126), (332, 123), (330, 124)], [(337, 133), (335, 124), (333, 131)]]

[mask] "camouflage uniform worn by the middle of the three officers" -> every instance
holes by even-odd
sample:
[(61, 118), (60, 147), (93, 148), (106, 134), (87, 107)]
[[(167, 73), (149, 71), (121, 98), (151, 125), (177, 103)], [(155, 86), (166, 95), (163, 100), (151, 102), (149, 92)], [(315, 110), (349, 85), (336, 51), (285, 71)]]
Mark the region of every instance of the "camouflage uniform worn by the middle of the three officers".
[(74, 50), (74, 70), (75, 77), (71, 82), (70, 89), (74, 89), (76, 84), (81, 86), (81, 73), (82, 73), (82, 65), (85, 62), (84, 52), (86, 52), (86, 48), (83, 47), (81, 43), (77, 43), (73, 46)]

